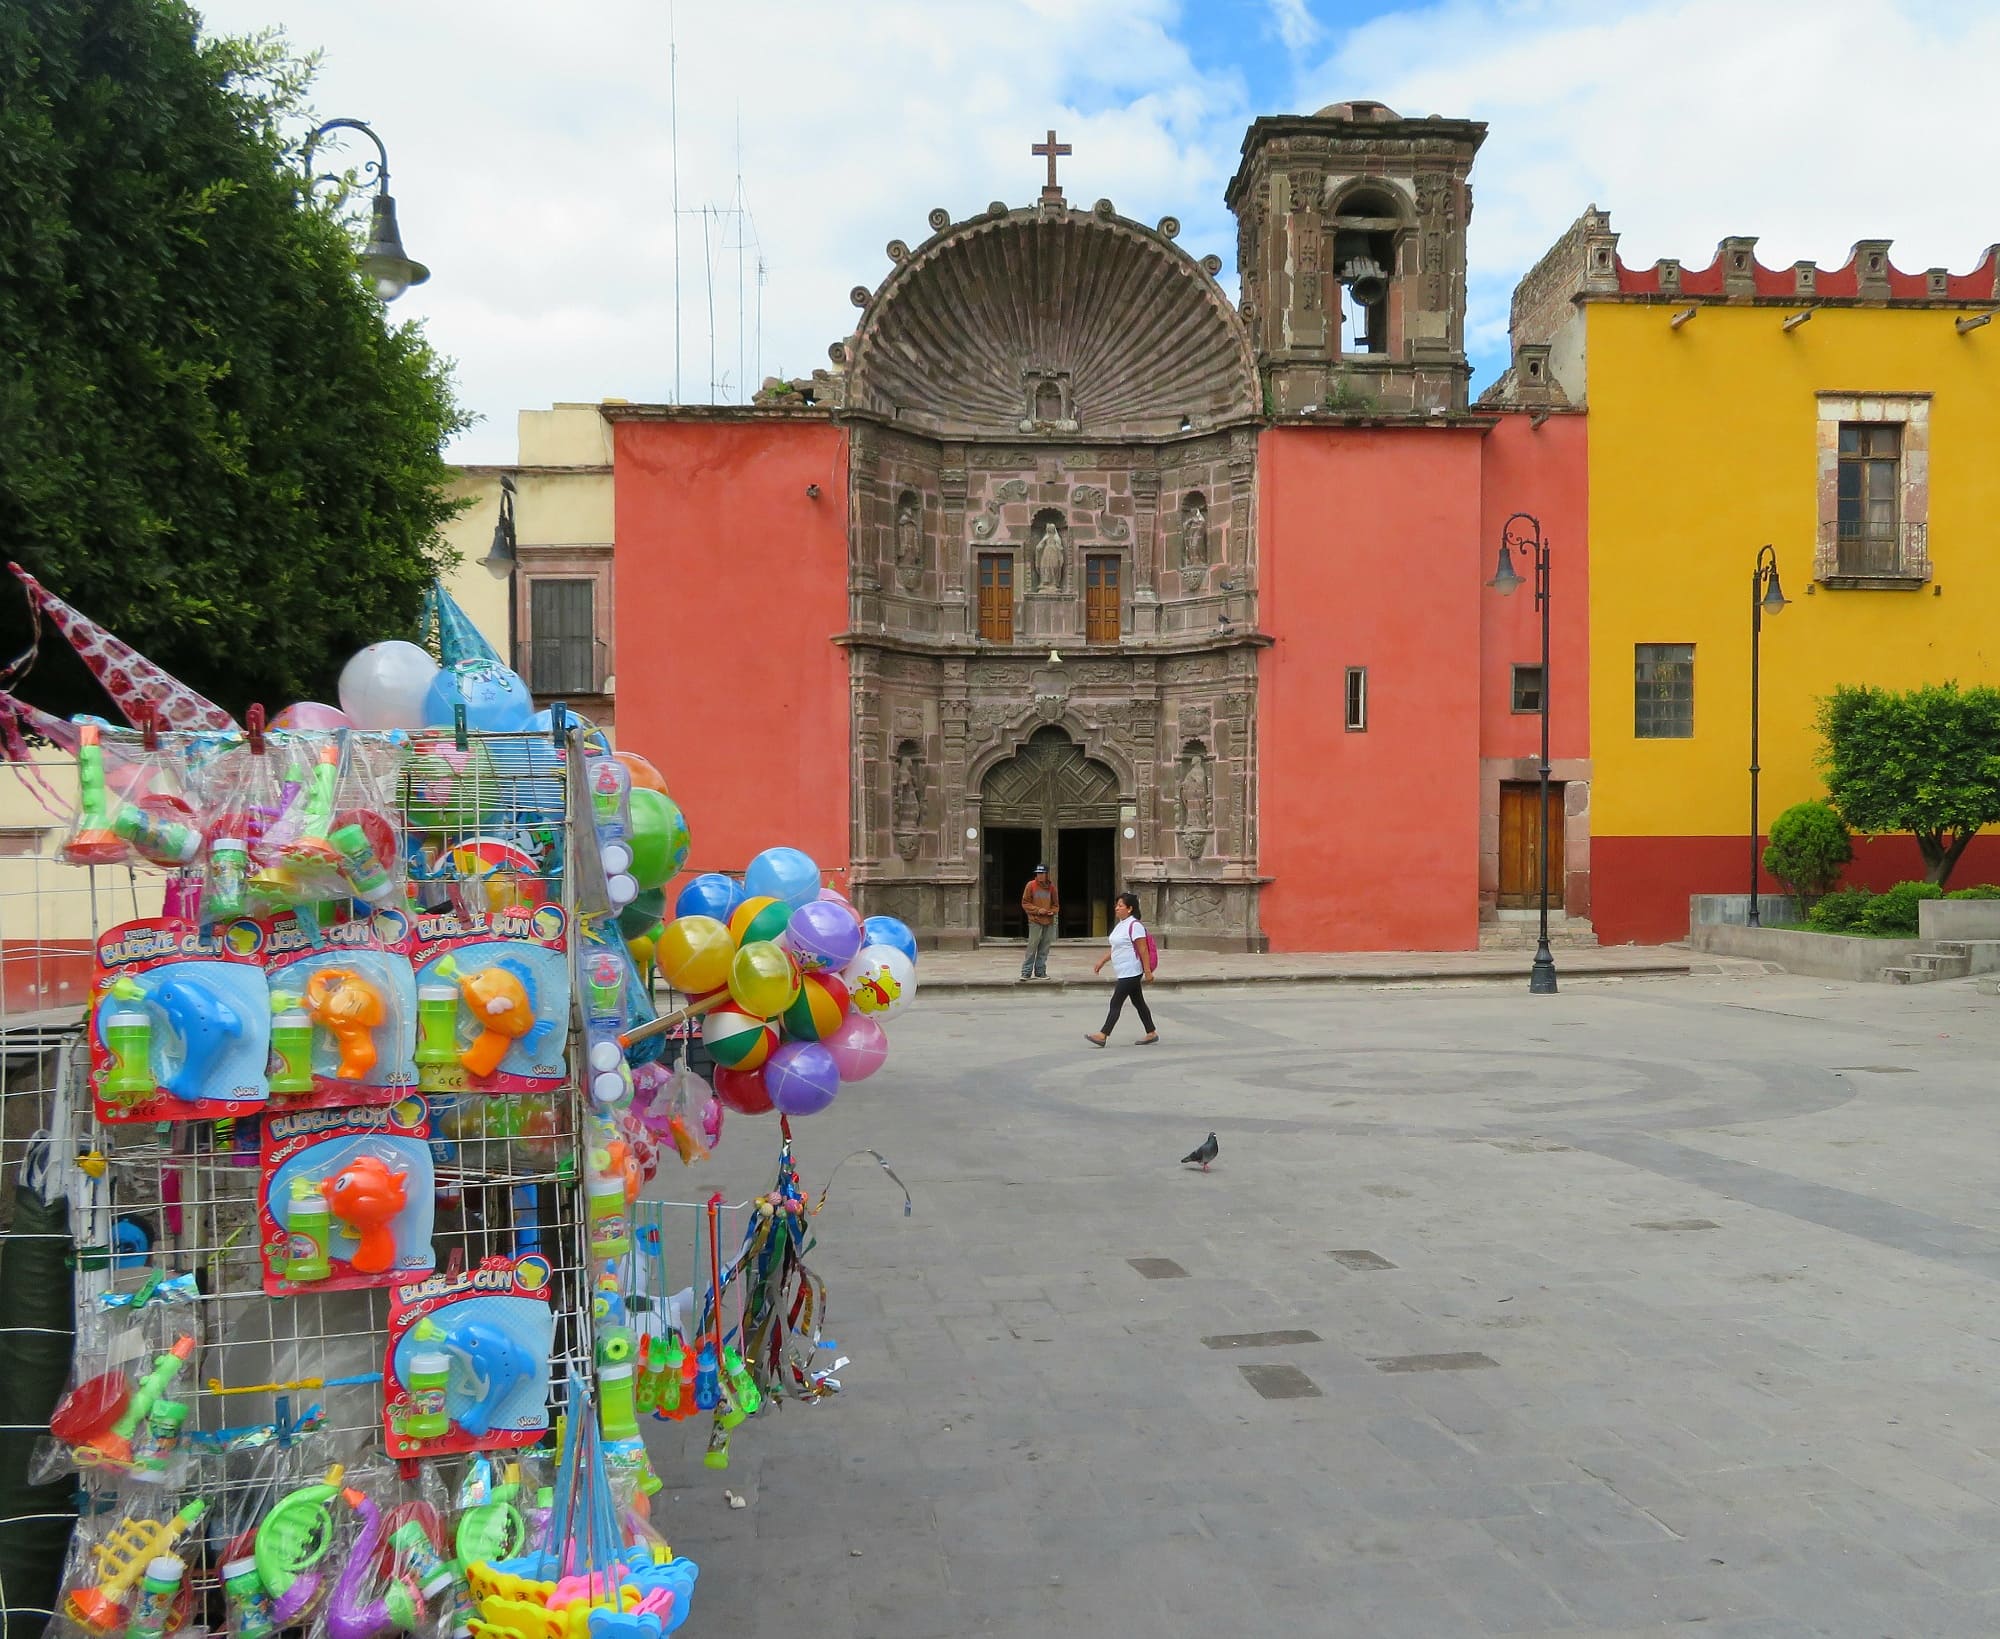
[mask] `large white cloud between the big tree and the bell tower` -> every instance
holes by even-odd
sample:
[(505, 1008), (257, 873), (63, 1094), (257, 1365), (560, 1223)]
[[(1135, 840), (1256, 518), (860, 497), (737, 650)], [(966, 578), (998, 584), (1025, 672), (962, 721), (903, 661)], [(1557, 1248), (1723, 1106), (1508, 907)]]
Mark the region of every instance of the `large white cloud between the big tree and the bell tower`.
[[(666, 4), (202, 10), (218, 32), (282, 20), (298, 48), (324, 48), (318, 112), (364, 118), (388, 144), (404, 242), (432, 268), (394, 314), (428, 324), (486, 416), (456, 458), (510, 460), (520, 408), (672, 398)], [(1248, 110), (1232, 70), (1198, 68), (1178, 44), (1178, 16), (1176, 0), (678, 6), (680, 206), (728, 208), (740, 164), (758, 242), (738, 258), (734, 222), (712, 218), (704, 262), (702, 220), (680, 220), (682, 398), (708, 398), (710, 268), (722, 398), (756, 388), (758, 298), (762, 372), (824, 366), (856, 318), (848, 288), (888, 272), (882, 246), (926, 238), (932, 206), (964, 218), (1030, 202), (1042, 162), (1028, 146), (1048, 126), (1076, 148), (1062, 162), (1072, 200), (1172, 212), (1196, 256), (1228, 256), (1220, 180)]]

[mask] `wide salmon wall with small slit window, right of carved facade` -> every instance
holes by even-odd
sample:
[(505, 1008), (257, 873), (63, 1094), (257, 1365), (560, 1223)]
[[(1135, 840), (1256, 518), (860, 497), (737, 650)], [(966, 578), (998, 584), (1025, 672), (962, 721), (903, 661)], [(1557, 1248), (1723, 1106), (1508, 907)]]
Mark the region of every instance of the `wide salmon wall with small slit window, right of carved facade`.
[[(1258, 452), (1272, 949), (1478, 943), (1480, 434), (1270, 428)], [(1342, 726), (1368, 668), (1368, 732)]]

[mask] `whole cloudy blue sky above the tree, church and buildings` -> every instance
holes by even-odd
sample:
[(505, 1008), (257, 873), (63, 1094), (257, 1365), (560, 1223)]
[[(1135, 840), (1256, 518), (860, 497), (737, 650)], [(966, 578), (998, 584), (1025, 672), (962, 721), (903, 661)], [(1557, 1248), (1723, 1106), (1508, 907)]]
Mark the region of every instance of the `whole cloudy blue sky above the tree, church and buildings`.
[(388, 144), (432, 270), (392, 316), (454, 360), (462, 462), (512, 462), (524, 408), (742, 402), (824, 366), (890, 240), (1034, 200), (1050, 126), (1072, 202), (1178, 216), (1234, 294), (1222, 190), (1252, 118), (1486, 120), (1474, 392), (1514, 282), (1588, 204), (1638, 266), (1756, 234), (1772, 266), (1890, 238), (1900, 268), (1964, 270), (2000, 240), (2000, 0), (194, 4), (320, 52), (314, 114)]

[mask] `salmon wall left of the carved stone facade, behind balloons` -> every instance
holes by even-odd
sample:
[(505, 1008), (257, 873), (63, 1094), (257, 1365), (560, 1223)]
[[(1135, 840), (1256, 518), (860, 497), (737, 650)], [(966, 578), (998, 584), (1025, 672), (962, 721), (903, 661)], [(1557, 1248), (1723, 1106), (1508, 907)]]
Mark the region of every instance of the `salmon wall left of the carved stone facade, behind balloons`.
[(788, 843), (846, 881), (846, 460), (824, 422), (616, 424), (618, 744), (666, 776), (690, 873)]

